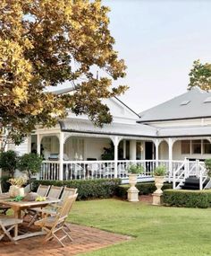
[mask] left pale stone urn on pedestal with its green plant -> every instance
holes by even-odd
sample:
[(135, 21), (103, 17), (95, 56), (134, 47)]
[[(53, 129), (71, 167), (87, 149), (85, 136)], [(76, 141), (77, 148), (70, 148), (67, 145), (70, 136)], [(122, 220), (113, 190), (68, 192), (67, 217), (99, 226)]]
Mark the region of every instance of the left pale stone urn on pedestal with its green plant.
[(131, 202), (139, 201), (139, 190), (135, 187), (137, 183), (138, 174), (144, 171), (143, 166), (139, 164), (130, 164), (128, 166), (128, 176), (129, 176), (129, 184), (131, 188), (127, 191), (128, 192), (128, 200)]

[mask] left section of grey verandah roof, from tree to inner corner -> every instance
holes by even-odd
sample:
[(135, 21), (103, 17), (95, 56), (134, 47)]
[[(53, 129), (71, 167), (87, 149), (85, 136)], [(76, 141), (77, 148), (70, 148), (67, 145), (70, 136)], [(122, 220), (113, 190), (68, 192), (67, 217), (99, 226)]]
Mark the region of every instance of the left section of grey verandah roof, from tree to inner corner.
[(156, 137), (156, 128), (141, 124), (105, 124), (103, 128), (94, 126), (85, 119), (65, 119), (60, 121), (61, 129), (69, 132), (119, 135), (128, 137)]

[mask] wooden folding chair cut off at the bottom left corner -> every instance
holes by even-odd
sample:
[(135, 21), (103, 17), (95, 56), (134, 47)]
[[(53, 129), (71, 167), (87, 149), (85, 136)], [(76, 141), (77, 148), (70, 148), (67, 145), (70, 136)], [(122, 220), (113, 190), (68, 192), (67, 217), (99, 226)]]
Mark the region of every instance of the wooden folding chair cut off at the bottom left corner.
[(0, 241), (4, 236), (7, 236), (11, 242), (17, 244), (17, 242), (13, 239), (13, 236), (10, 234), (10, 231), (16, 226), (22, 223), (22, 220), (19, 218), (0, 216)]

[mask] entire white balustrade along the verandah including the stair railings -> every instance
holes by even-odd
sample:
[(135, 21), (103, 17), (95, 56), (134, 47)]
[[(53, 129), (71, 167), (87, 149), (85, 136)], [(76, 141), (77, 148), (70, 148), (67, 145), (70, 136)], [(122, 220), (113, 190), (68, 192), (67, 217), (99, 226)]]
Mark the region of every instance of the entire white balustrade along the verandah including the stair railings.
[[(199, 161), (171, 161), (168, 160), (118, 160), (117, 178), (128, 179), (128, 167), (138, 164), (144, 172), (139, 174), (141, 179), (153, 179), (156, 165), (165, 165), (165, 181), (173, 181), (173, 189), (179, 189), (181, 183), (190, 175), (199, 178), (200, 189), (207, 179), (205, 164)], [(170, 168), (170, 164), (171, 168)], [(114, 178), (115, 162), (113, 161), (63, 161), (63, 180), (89, 180)], [(171, 170), (171, 171), (170, 171)], [(39, 173), (39, 180), (59, 180), (60, 164), (58, 161), (43, 161)], [(151, 181), (151, 180), (150, 180)]]

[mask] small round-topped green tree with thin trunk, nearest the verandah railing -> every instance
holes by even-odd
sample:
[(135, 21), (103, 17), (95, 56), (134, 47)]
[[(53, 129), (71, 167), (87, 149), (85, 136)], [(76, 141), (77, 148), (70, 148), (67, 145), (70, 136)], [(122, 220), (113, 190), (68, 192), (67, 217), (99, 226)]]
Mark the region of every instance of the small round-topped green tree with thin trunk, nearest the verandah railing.
[(42, 157), (39, 154), (23, 154), (20, 157), (18, 168), (21, 172), (25, 172), (29, 178), (31, 190), (31, 177), (40, 172)]

